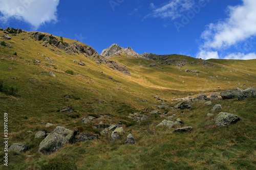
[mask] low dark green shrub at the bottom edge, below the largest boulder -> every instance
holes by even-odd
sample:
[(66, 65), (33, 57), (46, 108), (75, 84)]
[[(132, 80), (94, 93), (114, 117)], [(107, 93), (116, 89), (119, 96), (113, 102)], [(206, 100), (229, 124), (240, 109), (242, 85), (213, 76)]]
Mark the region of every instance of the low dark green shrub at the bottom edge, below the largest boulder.
[(74, 162), (71, 162), (66, 159), (55, 159), (55, 160), (50, 160), (47, 165), (42, 166), (41, 169), (48, 170), (48, 169), (53, 169), (53, 170), (76, 170), (77, 167)]

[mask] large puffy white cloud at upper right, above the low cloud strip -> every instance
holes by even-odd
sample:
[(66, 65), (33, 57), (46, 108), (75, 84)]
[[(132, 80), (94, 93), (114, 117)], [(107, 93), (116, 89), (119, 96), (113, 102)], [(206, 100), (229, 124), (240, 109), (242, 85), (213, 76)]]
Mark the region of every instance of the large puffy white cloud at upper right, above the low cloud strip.
[(256, 1), (243, 0), (243, 5), (228, 7), (229, 17), (210, 23), (202, 33), (204, 48), (230, 47), (256, 35)]

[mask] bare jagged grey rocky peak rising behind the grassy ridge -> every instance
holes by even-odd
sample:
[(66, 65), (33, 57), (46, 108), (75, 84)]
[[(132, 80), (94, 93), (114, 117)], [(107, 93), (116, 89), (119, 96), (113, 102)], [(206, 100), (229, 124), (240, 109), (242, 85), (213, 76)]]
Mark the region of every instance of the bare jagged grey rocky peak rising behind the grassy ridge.
[(121, 53), (127, 54), (127, 55), (138, 55), (131, 46), (128, 46), (127, 48), (123, 48), (118, 44), (112, 44), (110, 47), (104, 49), (101, 53), (102, 56), (104, 57), (113, 57), (116, 55), (120, 55)]

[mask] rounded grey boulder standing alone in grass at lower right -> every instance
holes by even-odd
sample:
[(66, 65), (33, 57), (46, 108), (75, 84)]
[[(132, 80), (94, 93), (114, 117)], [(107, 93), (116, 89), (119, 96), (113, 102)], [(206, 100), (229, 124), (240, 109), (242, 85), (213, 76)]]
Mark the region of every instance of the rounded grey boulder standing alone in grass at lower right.
[(223, 127), (226, 125), (237, 123), (240, 120), (240, 117), (235, 114), (220, 112), (215, 118), (215, 125), (217, 127)]

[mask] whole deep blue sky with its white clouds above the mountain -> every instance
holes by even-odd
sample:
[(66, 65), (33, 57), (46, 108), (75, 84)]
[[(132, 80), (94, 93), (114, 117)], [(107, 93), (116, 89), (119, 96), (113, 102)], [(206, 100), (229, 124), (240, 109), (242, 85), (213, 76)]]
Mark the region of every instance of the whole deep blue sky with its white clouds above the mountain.
[(256, 59), (255, 0), (0, 0), (0, 27), (75, 39), (99, 54)]

